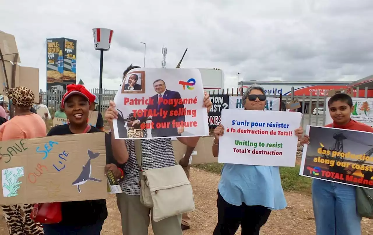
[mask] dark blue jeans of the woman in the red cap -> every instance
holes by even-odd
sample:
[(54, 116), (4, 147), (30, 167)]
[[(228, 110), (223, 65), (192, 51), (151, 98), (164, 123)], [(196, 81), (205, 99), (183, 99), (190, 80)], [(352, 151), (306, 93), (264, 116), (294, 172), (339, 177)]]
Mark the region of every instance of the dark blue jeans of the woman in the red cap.
[(103, 221), (88, 226), (68, 226), (54, 224), (43, 224), (45, 235), (100, 235)]

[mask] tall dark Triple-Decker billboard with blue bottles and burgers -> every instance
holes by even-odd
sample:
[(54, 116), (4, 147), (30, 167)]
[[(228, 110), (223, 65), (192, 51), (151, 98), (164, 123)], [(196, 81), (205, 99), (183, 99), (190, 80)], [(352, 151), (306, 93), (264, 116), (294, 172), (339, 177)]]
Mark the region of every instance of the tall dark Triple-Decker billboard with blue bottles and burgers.
[(76, 40), (47, 39), (47, 90), (66, 89), (76, 83)]

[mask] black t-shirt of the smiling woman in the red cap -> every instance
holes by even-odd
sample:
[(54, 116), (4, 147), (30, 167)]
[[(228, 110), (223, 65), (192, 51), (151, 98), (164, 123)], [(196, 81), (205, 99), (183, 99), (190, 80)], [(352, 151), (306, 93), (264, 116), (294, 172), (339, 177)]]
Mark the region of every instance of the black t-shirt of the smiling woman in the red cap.
[[(91, 126), (88, 133), (101, 132), (101, 130)], [(59, 136), (73, 134), (70, 131), (69, 124), (55, 126), (50, 129), (47, 136)], [(105, 133), (106, 144), (106, 163), (114, 163), (111, 138)], [(79, 145), (79, 143), (76, 143)], [(62, 221), (59, 224), (72, 226), (93, 225), (99, 221), (104, 221), (107, 217), (106, 200), (89, 200), (89, 201), (69, 201), (62, 202)]]

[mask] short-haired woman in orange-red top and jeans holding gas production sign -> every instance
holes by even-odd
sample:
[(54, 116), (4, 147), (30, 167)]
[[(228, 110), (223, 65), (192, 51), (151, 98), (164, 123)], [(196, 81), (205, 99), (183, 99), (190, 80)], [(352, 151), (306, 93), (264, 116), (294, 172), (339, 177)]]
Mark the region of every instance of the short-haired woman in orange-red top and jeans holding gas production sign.
[[(345, 93), (333, 95), (329, 101), (333, 123), (326, 127), (373, 132), (373, 128), (350, 118), (354, 110), (352, 99)], [(301, 144), (309, 144), (305, 135)], [(313, 179), (312, 202), (316, 235), (360, 235), (361, 216), (356, 209), (356, 187), (336, 182)]]

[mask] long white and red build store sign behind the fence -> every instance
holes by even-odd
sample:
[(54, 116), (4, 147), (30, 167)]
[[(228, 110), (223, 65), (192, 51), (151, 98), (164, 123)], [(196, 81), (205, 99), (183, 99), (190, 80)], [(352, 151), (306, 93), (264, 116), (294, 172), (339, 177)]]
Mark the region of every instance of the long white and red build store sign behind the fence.
[[(260, 82), (258, 82), (259, 86), (263, 87), (264, 88), (264, 91), (266, 92), (266, 94), (270, 94), (270, 95), (291, 95), (291, 87), (293, 86), (294, 87), (294, 95), (295, 96), (303, 96), (303, 94), (305, 96), (316, 96), (317, 95), (317, 92), (319, 92), (319, 95), (320, 96), (324, 96), (325, 95), (325, 92), (326, 92), (326, 95), (327, 95), (327, 92), (329, 90), (339, 90), (339, 89), (344, 89), (347, 87), (346, 86), (343, 86), (343, 85), (308, 85), (308, 86), (305, 86), (305, 85), (297, 85), (297, 84), (294, 84), (294, 85), (266, 85), (265, 83), (263, 84), (260, 84)], [(242, 86), (243, 87), (243, 90), (245, 92), (245, 90), (249, 87), (250, 85), (244, 85)], [(239, 89), (239, 92), (241, 91), (241, 85), (239, 84), (238, 85), (238, 89)], [(354, 90), (354, 93), (356, 93), (356, 90)], [(359, 90), (359, 96), (364, 96), (364, 89), (360, 89)], [(373, 97), (373, 90), (368, 90), (368, 97)]]

